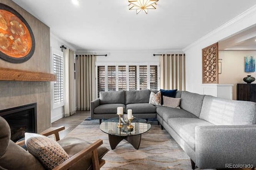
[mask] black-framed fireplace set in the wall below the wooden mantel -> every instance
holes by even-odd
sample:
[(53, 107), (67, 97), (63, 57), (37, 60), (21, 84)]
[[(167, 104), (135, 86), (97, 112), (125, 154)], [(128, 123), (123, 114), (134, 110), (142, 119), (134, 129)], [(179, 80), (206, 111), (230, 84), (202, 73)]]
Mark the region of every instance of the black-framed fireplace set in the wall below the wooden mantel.
[(37, 133), (36, 103), (0, 110), (11, 129), (11, 140), (16, 142), (24, 138), (25, 132)]

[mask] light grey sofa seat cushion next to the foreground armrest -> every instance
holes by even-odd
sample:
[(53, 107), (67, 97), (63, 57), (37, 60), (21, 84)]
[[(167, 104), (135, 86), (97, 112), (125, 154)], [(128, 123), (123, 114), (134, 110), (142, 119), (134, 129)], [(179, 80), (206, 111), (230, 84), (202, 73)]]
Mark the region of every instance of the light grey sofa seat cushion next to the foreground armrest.
[(168, 125), (195, 150), (195, 127), (213, 124), (198, 118), (171, 118)]

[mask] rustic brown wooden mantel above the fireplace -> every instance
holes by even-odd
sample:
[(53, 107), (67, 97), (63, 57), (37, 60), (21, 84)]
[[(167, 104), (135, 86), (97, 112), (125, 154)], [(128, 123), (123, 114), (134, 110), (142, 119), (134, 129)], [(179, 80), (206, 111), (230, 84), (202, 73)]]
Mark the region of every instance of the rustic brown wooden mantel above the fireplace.
[(34, 81), (51, 82), (56, 81), (56, 75), (43, 72), (17, 70), (0, 67), (0, 80), (5, 81)]

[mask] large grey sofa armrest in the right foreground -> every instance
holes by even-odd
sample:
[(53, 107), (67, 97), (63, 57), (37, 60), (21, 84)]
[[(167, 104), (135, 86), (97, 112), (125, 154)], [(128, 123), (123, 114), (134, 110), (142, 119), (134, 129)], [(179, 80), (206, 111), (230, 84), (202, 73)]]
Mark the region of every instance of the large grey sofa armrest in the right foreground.
[(256, 166), (256, 125), (197, 126), (195, 142), (198, 168)]

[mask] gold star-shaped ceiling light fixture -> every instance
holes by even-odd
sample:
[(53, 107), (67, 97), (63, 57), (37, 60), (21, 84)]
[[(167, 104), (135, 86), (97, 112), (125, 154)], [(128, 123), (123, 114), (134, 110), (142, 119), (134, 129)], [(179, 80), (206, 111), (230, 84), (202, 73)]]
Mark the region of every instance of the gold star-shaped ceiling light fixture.
[(148, 9), (156, 9), (156, 2), (158, 0), (128, 0), (129, 10), (136, 10), (136, 14), (139, 14), (141, 11), (144, 11), (148, 14)]

